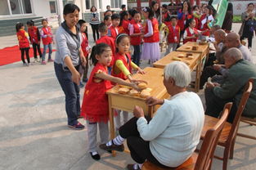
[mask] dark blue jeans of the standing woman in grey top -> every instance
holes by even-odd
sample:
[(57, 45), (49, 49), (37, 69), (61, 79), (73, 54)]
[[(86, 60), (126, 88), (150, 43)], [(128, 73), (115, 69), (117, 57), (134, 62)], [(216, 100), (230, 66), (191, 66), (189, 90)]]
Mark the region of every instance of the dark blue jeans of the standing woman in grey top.
[(68, 124), (78, 123), (80, 115), (80, 88), (72, 82), (72, 74), (69, 70), (63, 70), (61, 64), (54, 63), (56, 77), (65, 93), (65, 111), (68, 116)]

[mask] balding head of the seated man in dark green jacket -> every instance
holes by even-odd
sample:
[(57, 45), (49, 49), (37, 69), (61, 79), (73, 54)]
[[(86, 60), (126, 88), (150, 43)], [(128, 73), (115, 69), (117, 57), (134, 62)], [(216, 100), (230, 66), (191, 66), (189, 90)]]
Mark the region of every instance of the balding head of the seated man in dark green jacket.
[(229, 48), (225, 53), (224, 53), (224, 60), (225, 60), (225, 65), (226, 68), (230, 68), (232, 65), (236, 64), (237, 60), (240, 60), (243, 58), (243, 54), (241, 51), (236, 48), (236, 47), (231, 47)]

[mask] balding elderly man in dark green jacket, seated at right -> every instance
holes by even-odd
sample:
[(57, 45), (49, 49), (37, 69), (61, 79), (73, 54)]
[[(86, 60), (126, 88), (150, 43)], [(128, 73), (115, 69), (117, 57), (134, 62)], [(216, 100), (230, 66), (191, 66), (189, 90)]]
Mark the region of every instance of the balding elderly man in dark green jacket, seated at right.
[[(224, 105), (232, 101), (233, 105), (227, 121), (230, 123), (233, 122), (245, 84), (248, 82), (249, 78), (256, 78), (256, 66), (242, 58), (241, 51), (236, 47), (232, 47), (225, 52), (225, 67), (229, 69), (229, 71), (225, 77), (223, 77), (221, 84), (207, 83), (207, 88), (204, 91), (206, 102), (205, 114), (217, 118)], [(245, 105), (243, 115), (254, 118), (256, 117), (255, 110), (256, 89), (254, 88), (249, 96), (247, 105)]]

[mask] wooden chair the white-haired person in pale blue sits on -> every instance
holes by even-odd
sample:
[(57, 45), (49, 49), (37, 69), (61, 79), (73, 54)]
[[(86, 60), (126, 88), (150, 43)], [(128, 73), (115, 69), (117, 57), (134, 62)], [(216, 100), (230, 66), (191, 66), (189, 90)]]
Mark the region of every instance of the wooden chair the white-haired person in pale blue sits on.
[(227, 115), (231, 110), (232, 103), (227, 103), (223, 109), (222, 118), (219, 119), (218, 123), (213, 128), (210, 128), (206, 134), (201, 146), (200, 153), (193, 153), (192, 156), (182, 163), (177, 168), (159, 168), (154, 163), (146, 161), (143, 163), (141, 170), (210, 170), (214, 150), (216, 148), (218, 137), (222, 132), (224, 123), (227, 120)]

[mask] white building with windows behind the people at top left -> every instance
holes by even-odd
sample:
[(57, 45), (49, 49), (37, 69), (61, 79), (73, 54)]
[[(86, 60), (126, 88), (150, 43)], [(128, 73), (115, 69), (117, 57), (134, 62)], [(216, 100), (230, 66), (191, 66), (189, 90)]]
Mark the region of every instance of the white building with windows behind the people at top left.
[(49, 25), (57, 27), (63, 21), (66, 3), (76, 4), (81, 10), (80, 18), (88, 22), (92, 6), (100, 13), (106, 11), (107, 5), (119, 11), (122, 4), (127, 5), (127, 0), (0, 0), (0, 36), (14, 34), (14, 25), (28, 20), (40, 26), (41, 20), (46, 18)]

